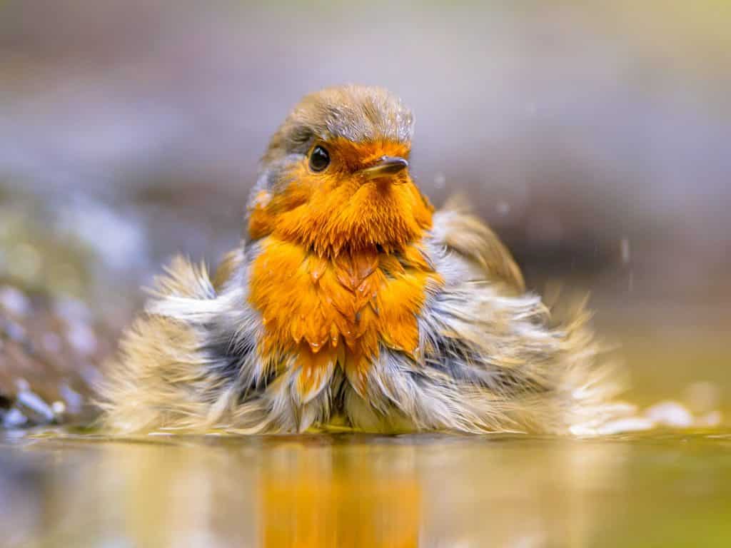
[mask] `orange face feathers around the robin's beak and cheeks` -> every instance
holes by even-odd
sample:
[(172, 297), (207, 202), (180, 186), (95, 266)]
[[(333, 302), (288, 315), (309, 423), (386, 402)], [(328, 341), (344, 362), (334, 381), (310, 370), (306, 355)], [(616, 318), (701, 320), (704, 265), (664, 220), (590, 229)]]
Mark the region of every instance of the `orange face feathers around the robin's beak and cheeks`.
[(405, 169), (368, 173), (383, 156), (406, 159), (406, 145), (338, 140), (318, 146), (330, 156), (322, 172), (303, 157), (281, 171), (275, 189), (260, 191), (249, 216), (252, 238), (276, 235), (336, 256), (375, 246), (397, 251), (431, 228), (433, 208)]

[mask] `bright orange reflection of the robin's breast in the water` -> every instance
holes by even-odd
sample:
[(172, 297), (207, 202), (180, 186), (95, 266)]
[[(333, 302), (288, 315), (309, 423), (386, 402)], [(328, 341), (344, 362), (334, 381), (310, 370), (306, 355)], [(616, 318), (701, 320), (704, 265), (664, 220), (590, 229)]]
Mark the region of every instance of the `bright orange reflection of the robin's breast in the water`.
[(372, 457), (298, 446), (264, 465), (262, 546), (416, 547), (421, 490), (414, 469), (403, 463), (393, 471)]

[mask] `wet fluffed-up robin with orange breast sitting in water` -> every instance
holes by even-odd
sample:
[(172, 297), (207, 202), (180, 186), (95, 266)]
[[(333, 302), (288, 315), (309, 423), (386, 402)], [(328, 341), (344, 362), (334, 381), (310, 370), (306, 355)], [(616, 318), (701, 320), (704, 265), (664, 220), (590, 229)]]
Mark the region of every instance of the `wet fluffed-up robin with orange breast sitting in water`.
[(305, 96), (240, 244), (156, 278), (98, 388), (107, 432), (571, 435), (624, 413), (586, 306), (527, 290), (464, 200), (433, 207), (413, 132), (384, 88)]

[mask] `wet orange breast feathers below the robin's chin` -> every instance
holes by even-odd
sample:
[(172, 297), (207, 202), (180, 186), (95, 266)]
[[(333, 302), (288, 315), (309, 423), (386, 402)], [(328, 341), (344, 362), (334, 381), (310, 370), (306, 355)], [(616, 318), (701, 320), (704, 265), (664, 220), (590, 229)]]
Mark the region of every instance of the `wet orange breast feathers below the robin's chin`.
[[(269, 237), (254, 261), (249, 300), (262, 314), (259, 352), (270, 368), (298, 367), (302, 400), (333, 368), (359, 392), (379, 343), (413, 354), (428, 286), (441, 283), (418, 245), (399, 256), (376, 248), (325, 258)], [(287, 362), (283, 356), (294, 357)]]

